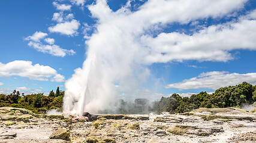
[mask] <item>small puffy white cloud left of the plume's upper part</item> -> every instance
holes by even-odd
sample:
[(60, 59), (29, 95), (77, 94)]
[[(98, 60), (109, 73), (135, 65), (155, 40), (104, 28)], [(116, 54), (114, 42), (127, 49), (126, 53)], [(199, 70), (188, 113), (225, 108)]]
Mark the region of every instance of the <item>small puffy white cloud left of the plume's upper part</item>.
[(56, 26), (49, 27), (50, 32), (57, 32), (63, 35), (74, 36), (77, 34), (77, 29), (79, 29), (80, 23), (77, 20), (66, 21), (64, 23), (58, 23)]

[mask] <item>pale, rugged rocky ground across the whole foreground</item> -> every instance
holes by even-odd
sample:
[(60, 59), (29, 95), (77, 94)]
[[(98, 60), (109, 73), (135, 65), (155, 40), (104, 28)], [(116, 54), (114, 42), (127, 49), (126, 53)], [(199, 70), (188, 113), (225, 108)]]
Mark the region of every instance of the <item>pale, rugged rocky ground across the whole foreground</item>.
[(256, 142), (256, 114), (200, 108), (183, 114), (98, 116), (34, 114), (0, 108), (0, 142)]

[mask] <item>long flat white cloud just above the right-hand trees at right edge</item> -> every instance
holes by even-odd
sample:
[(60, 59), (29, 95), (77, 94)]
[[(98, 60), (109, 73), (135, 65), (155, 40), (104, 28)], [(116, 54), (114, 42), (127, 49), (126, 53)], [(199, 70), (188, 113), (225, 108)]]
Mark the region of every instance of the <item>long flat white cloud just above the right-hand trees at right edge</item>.
[(253, 85), (256, 84), (256, 73), (228, 73), (227, 71), (210, 71), (201, 73), (197, 77), (185, 79), (179, 83), (172, 83), (165, 86), (165, 88), (183, 89), (212, 89), (216, 90), (221, 87), (237, 85), (242, 82), (248, 82)]

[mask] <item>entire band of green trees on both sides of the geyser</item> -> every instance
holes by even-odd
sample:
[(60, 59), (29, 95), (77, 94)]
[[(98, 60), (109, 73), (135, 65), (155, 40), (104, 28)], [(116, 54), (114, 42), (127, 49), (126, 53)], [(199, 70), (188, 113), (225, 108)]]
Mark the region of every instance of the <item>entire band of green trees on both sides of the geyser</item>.
[[(11, 106), (26, 108), (34, 113), (46, 113), (47, 110), (57, 109), (62, 111), (62, 100), (64, 91), (51, 91), (49, 96), (41, 94), (20, 95), (19, 91), (13, 91), (9, 95), (0, 94), (0, 107)], [(137, 107), (134, 104), (127, 104), (122, 101), (122, 106), (113, 113), (119, 114), (146, 114), (150, 112), (161, 113), (184, 113), (200, 107), (222, 108), (241, 107), (242, 104), (252, 104), (256, 101), (256, 86), (247, 82), (240, 85), (219, 88), (213, 94), (200, 92), (191, 97), (180, 97), (179, 94), (172, 94), (170, 97), (162, 97), (161, 100), (153, 102), (153, 107)]]

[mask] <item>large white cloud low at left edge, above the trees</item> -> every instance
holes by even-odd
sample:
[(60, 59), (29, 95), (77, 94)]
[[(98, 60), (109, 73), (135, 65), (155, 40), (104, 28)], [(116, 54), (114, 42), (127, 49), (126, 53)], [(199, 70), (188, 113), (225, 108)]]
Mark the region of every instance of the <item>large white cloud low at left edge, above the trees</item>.
[(32, 80), (45, 80), (48, 81), (50, 77), (55, 78), (54, 82), (61, 82), (57, 77), (64, 76), (58, 74), (55, 69), (49, 66), (43, 66), (40, 64), (32, 65), (31, 61), (11, 61), (10, 63), (3, 64), (0, 62), (0, 77), (8, 76), (20, 76), (28, 77)]

